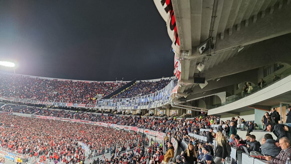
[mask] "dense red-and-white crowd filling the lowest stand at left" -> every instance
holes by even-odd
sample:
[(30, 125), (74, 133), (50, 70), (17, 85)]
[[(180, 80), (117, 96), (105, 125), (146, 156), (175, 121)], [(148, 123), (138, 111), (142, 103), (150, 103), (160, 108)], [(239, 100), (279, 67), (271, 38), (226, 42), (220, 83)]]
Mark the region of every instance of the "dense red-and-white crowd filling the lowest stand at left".
[(131, 149), (148, 142), (137, 133), (103, 126), (4, 114), (0, 114), (0, 131), (2, 148), (44, 161), (84, 161), (84, 149), (78, 141), (85, 143), (91, 154), (101, 154), (105, 148), (114, 152), (116, 146), (118, 150)]

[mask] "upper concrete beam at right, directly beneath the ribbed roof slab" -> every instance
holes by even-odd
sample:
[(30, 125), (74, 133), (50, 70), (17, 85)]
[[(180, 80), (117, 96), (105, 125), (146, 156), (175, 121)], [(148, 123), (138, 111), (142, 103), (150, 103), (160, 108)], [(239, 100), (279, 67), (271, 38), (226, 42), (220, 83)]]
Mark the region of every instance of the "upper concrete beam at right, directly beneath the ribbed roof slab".
[[(275, 8), (273, 14), (266, 14), (263, 19), (257, 17), (256, 23), (249, 22), (248, 27), (242, 26), (239, 31), (236, 30), (237, 32), (231, 33), (230, 31), (232, 31), (232, 29), (229, 29), (229, 35), (225, 33), (223, 40), (216, 41), (215, 51), (228, 50), (232, 47), (249, 45), (284, 35), (291, 32), (290, 27), (291, 6), (283, 5), (280, 11)], [(214, 53), (214, 50), (212, 50), (212, 53)]]

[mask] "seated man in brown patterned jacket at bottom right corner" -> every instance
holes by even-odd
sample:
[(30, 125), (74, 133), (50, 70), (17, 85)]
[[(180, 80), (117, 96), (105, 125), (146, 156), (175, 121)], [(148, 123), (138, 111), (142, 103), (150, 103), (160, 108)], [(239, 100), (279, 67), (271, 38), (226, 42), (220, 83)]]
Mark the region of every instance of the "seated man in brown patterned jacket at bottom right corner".
[(271, 161), (274, 164), (285, 164), (287, 158), (291, 158), (290, 140), (287, 137), (282, 137), (279, 140), (281, 152), (276, 156), (265, 156), (267, 161)]

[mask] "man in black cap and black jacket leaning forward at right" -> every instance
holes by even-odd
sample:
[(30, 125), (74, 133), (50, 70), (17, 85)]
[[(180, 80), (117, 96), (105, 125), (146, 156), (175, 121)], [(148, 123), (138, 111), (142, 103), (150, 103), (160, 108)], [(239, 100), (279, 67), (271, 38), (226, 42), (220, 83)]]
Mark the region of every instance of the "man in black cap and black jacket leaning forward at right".
[(284, 124), (276, 124), (267, 122), (264, 126), (264, 131), (273, 132), (276, 135), (276, 146), (279, 147), (279, 140), (282, 137), (287, 137), (291, 140), (291, 127)]

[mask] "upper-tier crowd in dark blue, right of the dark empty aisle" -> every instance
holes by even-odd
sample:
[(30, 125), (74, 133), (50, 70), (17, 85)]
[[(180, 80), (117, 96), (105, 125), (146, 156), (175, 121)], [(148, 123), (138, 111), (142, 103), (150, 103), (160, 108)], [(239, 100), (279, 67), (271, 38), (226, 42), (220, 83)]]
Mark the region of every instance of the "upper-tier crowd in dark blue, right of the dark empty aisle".
[(111, 98), (131, 98), (136, 96), (149, 95), (163, 89), (170, 82), (171, 80), (169, 79), (162, 79), (155, 82), (140, 81), (138, 83), (135, 83), (133, 86), (129, 87), (125, 91), (112, 96)]

